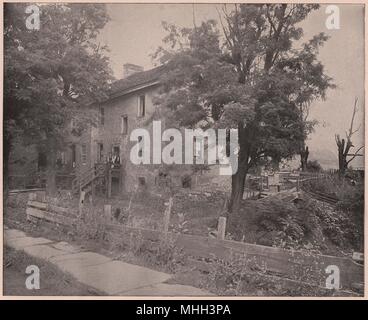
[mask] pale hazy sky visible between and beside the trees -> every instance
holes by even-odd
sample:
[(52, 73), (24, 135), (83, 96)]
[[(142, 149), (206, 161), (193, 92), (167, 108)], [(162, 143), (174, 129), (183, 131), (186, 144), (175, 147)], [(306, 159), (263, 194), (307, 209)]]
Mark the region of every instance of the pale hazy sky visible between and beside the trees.
[[(100, 41), (109, 49), (111, 68), (117, 79), (122, 77), (123, 64), (134, 63), (148, 70), (154, 67), (150, 55), (162, 44), (166, 33), (162, 21), (179, 26), (193, 26), (193, 8), (196, 24), (207, 19), (218, 20), (215, 4), (108, 4), (111, 21), (100, 35)], [(328, 30), (326, 6), (312, 12), (301, 23), (302, 41), (325, 32), (330, 39), (320, 49), (319, 60), (326, 73), (333, 78), (336, 89), (327, 92), (325, 101), (315, 101), (310, 107), (310, 119), (316, 119), (315, 127), (307, 142), (311, 153), (337, 153), (335, 133), (345, 135), (350, 126), (355, 97), (359, 112), (356, 127), (361, 126), (353, 142), (364, 144), (364, 7), (362, 5), (338, 5), (340, 29)], [(362, 165), (362, 157), (354, 160)]]

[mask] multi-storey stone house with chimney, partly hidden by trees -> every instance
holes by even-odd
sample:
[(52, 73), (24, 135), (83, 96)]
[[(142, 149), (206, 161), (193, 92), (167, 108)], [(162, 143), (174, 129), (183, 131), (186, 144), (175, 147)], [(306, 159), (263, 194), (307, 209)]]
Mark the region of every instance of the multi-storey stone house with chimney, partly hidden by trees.
[[(110, 170), (110, 195), (146, 188), (160, 192), (162, 186), (168, 184), (190, 187), (191, 183), (187, 179), (192, 170), (190, 166), (176, 167), (168, 177), (160, 165), (135, 165), (130, 161), (131, 149), (137, 143), (130, 141), (132, 130), (145, 128), (152, 133), (154, 117), (162, 120), (164, 130), (164, 120), (160, 118), (159, 109), (153, 102), (164, 72), (164, 66), (143, 71), (140, 66), (125, 64), (124, 77), (112, 84), (109, 98), (93, 106), (98, 114), (97, 125), (89, 127), (79, 137), (70, 135), (64, 150), (58, 153), (59, 171), (69, 175), (78, 184), (78, 179), (92, 173), (96, 166), (107, 165), (111, 155), (118, 154), (120, 165)], [(73, 122), (70, 129), (73, 130)], [(42, 154), (33, 158), (36, 159), (32, 160), (35, 167), (33, 171), (40, 170), (37, 163), (42, 160)]]

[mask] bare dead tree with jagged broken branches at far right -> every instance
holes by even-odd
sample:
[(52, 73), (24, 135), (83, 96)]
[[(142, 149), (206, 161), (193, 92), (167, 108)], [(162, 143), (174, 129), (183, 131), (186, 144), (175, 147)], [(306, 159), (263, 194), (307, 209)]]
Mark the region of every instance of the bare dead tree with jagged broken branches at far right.
[[(360, 129), (360, 125), (358, 126), (357, 129), (354, 129), (354, 119), (355, 119), (356, 112), (358, 110), (357, 103), (358, 103), (358, 98), (355, 98), (353, 115), (351, 117), (351, 122), (350, 122), (350, 128), (349, 128), (349, 131), (346, 132), (346, 140), (344, 138), (341, 139), (339, 134), (335, 134), (335, 140), (336, 140), (338, 157), (339, 157), (340, 176), (345, 175), (345, 172), (346, 172), (346, 169), (348, 168), (349, 163), (353, 161), (359, 155), (359, 151), (364, 148), (364, 146), (361, 146), (353, 154), (349, 153), (350, 149), (355, 147), (352, 142), (352, 137)], [(348, 160), (348, 157), (350, 157), (349, 160)]]

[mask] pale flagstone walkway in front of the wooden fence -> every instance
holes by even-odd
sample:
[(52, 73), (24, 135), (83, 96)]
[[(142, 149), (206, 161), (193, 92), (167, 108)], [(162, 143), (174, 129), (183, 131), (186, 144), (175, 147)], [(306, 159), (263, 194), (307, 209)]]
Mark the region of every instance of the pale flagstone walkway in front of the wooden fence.
[[(98, 253), (83, 251), (67, 242), (27, 236), (16, 229), (4, 230), (5, 245), (26, 254), (45, 259), (79, 282), (105, 292), (122, 296), (208, 296), (201, 289), (165, 283), (172, 275), (149, 268), (112, 260)], [(42, 277), (42, 275), (41, 275)]]

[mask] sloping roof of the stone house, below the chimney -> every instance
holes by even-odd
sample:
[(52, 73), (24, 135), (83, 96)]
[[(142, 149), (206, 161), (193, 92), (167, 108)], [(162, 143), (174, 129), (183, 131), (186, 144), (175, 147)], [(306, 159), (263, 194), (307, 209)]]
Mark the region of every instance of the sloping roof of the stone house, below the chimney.
[(134, 73), (125, 79), (117, 80), (111, 85), (110, 98), (116, 98), (146, 86), (158, 84), (164, 71), (165, 66), (162, 65), (147, 71)]

